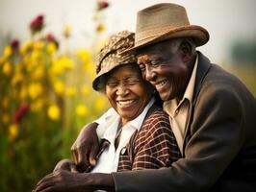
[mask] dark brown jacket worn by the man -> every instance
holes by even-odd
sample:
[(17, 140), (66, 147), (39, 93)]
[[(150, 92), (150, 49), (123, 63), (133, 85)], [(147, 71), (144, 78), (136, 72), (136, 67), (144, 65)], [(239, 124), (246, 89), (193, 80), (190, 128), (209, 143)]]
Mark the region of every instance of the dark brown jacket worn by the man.
[(113, 173), (116, 191), (256, 191), (256, 101), (198, 52), (184, 156), (170, 168)]

